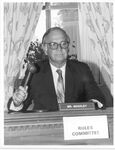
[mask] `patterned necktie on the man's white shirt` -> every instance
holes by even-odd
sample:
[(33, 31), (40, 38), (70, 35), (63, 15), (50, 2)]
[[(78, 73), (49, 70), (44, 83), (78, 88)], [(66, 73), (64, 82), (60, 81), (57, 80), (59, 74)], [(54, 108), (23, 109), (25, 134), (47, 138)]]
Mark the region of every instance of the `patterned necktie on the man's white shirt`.
[(65, 94), (64, 94), (64, 83), (63, 83), (62, 71), (61, 69), (57, 69), (56, 72), (58, 73), (57, 100), (58, 100), (58, 103), (64, 103)]

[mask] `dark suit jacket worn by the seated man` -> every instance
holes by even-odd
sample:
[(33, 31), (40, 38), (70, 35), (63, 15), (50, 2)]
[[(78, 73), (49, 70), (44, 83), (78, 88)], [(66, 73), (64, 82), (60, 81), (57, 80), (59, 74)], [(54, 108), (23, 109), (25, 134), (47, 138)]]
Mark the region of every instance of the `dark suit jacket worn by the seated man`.
[[(53, 83), (49, 61), (38, 64), (39, 72), (35, 73), (29, 84), (28, 98), (24, 101), (22, 111), (25, 111), (34, 101), (34, 110), (58, 110), (58, 102)], [(97, 99), (105, 104), (104, 96), (98, 88), (93, 75), (83, 62), (67, 60), (65, 71), (65, 103), (87, 102)], [(10, 108), (11, 99), (8, 103)]]

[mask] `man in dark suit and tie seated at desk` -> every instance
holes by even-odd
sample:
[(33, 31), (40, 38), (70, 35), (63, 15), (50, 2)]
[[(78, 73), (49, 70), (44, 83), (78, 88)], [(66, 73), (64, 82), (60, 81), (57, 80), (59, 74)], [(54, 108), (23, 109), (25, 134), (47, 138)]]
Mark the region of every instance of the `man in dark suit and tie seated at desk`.
[(104, 97), (88, 65), (67, 59), (69, 43), (63, 29), (53, 27), (46, 31), (42, 46), (49, 59), (38, 63), (39, 72), (33, 75), (28, 89), (20, 86), (14, 92), (8, 102), (10, 111), (25, 111), (32, 101), (33, 110), (57, 111), (59, 103), (88, 101), (104, 107)]

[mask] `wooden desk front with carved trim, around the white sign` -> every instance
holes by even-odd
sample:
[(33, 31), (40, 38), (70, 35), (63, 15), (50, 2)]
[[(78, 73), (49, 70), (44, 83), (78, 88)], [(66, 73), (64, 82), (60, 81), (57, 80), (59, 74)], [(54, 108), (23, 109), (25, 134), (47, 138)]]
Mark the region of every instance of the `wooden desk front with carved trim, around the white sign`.
[[(109, 138), (64, 140), (63, 117), (107, 115)], [(5, 145), (113, 145), (113, 108), (94, 111), (5, 113)]]

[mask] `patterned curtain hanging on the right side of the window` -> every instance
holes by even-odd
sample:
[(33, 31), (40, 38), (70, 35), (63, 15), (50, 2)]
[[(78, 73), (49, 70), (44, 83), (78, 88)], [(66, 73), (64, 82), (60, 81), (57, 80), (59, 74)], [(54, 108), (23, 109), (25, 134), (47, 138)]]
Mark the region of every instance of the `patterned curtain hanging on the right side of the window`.
[(82, 61), (87, 62), (96, 82), (113, 85), (113, 3), (79, 3)]

